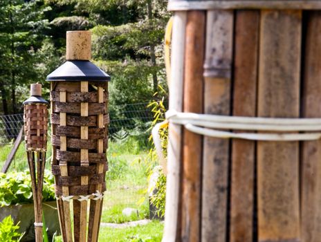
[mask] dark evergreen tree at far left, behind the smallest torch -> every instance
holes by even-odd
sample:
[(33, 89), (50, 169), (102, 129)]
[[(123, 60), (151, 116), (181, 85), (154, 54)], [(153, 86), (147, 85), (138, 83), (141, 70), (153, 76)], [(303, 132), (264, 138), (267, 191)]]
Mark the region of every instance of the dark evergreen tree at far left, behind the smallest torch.
[(39, 80), (36, 53), (48, 28), (46, 10), (49, 9), (40, 1), (0, 1), (0, 91), (4, 114), (20, 111), (17, 93), (24, 92), (27, 83)]

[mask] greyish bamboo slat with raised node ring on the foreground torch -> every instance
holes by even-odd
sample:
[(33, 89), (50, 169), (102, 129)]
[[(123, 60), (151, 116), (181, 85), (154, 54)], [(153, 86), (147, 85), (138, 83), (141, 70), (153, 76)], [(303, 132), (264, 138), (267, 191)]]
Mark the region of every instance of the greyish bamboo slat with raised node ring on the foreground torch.
[[(232, 11), (207, 14), (204, 113), (230, 114)], [(203, 138), (202, 241), (226, 241), (229, 140)]]

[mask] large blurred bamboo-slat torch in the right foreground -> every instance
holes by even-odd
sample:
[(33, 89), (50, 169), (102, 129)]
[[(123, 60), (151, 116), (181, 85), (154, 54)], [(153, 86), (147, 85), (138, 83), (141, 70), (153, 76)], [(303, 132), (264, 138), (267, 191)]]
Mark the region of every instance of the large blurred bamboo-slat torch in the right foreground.
[[(321, 1), (169, 0), (168, 8), (169, 109), (321, 118)], [(163, 241), (321, 241), (320, 161), (320, 140), (213, 138), (169, 119)]]

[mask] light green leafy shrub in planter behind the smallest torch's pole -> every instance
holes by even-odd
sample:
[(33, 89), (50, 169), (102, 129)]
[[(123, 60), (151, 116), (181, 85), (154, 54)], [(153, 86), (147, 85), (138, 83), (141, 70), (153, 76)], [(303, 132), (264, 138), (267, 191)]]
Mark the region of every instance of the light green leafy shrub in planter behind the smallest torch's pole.
[[(50, 171), (45, 170), (43, 201), (55, 200), (54, 178)], [(31, 187), (30, 171), (12, 171), (7, 174), (0, 173), (0, 205), (8, 206), (21, 203), (33, 203), (33, 190)]]

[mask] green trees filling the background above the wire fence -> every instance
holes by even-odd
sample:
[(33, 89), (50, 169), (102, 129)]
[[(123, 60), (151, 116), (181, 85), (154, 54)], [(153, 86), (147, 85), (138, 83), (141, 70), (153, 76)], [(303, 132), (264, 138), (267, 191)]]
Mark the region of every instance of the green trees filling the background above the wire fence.
[[(66, 31), (91, 30), (92, 61), (111, 75), (113, 104), (163, 97), (163, 0), (1, 0), (0, 114), (21, 113), (29, 85), (65, 61)], [(159, 86), (163, 86), (160, 89)], [(155, 94), (156, 93), (156, 94)]]

